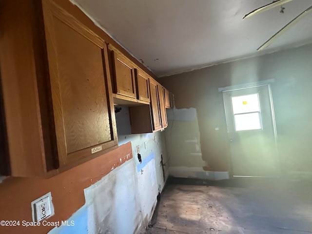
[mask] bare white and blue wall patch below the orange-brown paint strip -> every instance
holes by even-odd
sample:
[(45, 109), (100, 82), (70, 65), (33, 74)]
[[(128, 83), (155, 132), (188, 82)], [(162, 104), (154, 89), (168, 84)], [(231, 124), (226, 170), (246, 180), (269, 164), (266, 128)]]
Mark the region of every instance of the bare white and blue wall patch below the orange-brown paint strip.
[[(79, 227), (62, 226), (49, 234), (124, 234), (143, 233), (153, 215), (158, 193), (155, 161), (144, 168), (144, 175), (136, 173), (134, 161), (124, 164), (122, 173), (117, 170), (84, 190), (85, 205), (68, 219)], [(155, 179), (156, 180), (156, 179)], [(79, 223), (76, 221), (80, 219)], [(86, 232), (87, 230), (87, 232)]]

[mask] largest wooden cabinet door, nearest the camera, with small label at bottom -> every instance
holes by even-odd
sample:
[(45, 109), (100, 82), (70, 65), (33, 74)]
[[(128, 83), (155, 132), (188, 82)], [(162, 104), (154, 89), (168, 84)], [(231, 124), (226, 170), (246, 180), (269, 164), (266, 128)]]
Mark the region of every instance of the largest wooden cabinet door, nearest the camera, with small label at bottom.
[(42, 3), (60, 168), (117, 146), (105, 42), (54, 2)]

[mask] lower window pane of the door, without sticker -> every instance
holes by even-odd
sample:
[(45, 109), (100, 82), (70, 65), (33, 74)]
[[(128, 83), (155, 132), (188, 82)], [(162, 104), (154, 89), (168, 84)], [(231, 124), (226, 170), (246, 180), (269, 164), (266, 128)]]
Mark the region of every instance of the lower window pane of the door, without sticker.
[(234, 115), (235, 130), (246, 131), (261, 129), (260, 112)]

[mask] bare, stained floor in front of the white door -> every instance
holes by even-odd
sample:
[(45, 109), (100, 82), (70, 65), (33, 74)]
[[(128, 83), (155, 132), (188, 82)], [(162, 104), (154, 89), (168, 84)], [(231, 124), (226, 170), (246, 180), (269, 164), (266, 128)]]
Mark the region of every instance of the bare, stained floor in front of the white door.
[(169, 185), (146, 234), (312, 233), (311, 193), (312, 183)]

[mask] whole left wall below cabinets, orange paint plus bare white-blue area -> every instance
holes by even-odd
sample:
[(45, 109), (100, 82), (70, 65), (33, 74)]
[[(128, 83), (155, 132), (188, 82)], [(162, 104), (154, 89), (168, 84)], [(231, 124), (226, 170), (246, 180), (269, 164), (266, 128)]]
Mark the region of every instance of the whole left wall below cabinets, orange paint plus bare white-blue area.
[[(120, 133), (130, 129), (128, 115), (127, 107), (116, 114)], [(41, 221), (39, 227), (0, 227), (0, 233), (47, 233), (51, 229), (51, 234), (143, 233), (168, 176), (167, 172), (164, 179), (160, 163), (161, 155), (166, 160), (164, 133), (118, 134), (118, 138), (118, 149), (58, 176), (3, 178), (0, 220), (32, 221), (31, 201), (51, 192), (55, 215), (46, 220), (68, 221), (68, 226), (43, 226)], [(142, 163), (137, 159), (137, 145)], [(107, 160), (115, 160), (115, 166), (107, 168)]]

